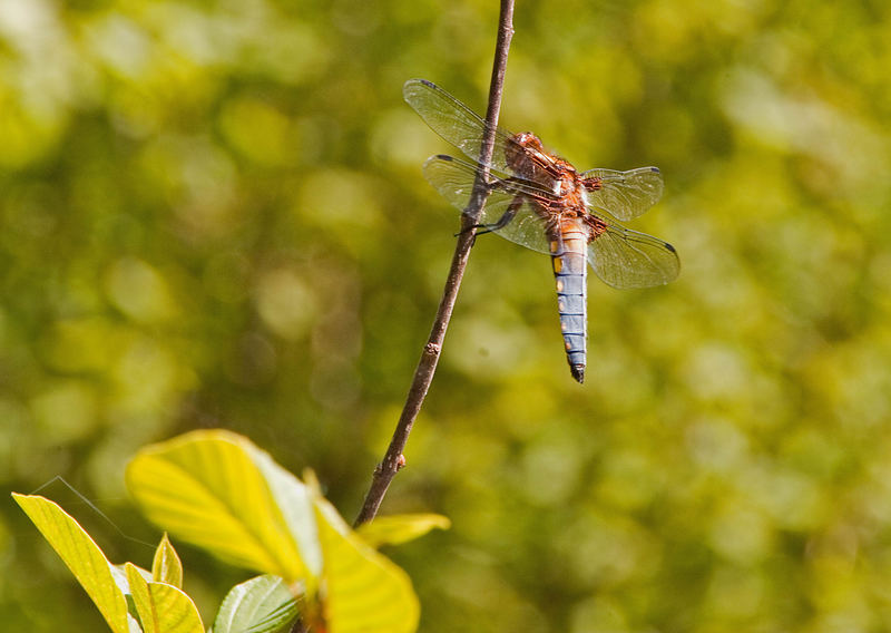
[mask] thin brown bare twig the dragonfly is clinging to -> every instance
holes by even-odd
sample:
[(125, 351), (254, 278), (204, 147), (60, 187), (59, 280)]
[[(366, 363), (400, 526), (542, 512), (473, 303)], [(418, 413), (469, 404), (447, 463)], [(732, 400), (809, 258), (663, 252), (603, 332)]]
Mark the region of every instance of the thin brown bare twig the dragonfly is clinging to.
[[(507, 68), (511, 37), (513, 37), (513, 0), (501, 0), (498, 41), (492, 64), (492, 79), (489, 85), (489, 106), (486, 110), (486, 123), (488, 125), (482, 139), (482, 147), (480, 148), (480, 163), (482, 165), (488, 165), (492, 158), (495, 129), (498, 124), (498, 111), (501, 108), (501, 94), (505, 86), (505, 70)], [(421, 353), (418, 369), (414, 370), (414, 379), (405, 399), (405, 407), (402, 409), (399, 423), (396, 423), (396, 429), (393, 432), (393, 439), (390, 441), (390, 447), (386, 449), (383, 460), (374, 469), (371, 487), (365, 495), (362, 510), (359, 513), (354, 526), (360, 526), (374, 518), (386, 489), (390, 487), (390, 483), (405, 464), (402, 450), (405, 448), (414, 419), (421, 410), (430, 382), (433, 380), (433, 373), (435, 373), (439, 356), (442, 351), (442, 341), (446, 338), (446, 330), (449, 328), (454, 301), (458, 298), (458, 289), (461, 286), (461, 279), (464, 275), (470, 249), (473, 246), (474, 226), (479, 223), (482, 205), (488, 194), (484, 186), (486, 172), (487, 169), (483, 169), (481, 174), (477, 175), (473, 195), (461, 216), (461, 233), (458, 235), (458, 243), (454, 246), (451, 269), (446, 280), (446, 289), (437, 310), (437, 318), (433, 321), (430, 338), (427, 340), (423, 353)]]

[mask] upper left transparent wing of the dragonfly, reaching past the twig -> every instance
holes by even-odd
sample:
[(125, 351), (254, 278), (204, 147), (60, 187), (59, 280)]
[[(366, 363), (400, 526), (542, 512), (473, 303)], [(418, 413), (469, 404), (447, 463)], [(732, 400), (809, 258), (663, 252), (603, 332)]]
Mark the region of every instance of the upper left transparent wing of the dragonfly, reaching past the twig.
[[(454, 145), (472, 160), (479, 160), (486, 120), (449, 92), (427, 79), (409, 79), (402, 87), (402, 96), (430, 128)], [(509, 173), (505, 148), (516, 145), (513, 135), (499, 127), (495, 132), (495, 152), (489, 163), (500, 172)]]

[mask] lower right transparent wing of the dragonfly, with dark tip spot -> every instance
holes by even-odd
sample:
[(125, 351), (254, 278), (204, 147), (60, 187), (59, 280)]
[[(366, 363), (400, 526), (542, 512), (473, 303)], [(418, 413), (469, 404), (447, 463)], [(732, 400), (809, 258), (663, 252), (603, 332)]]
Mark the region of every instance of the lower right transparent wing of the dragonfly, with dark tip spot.
[(613, 288), (663, 285), (681, 271), (674, 246), (616, 224), (588, 244), (588, 263)]

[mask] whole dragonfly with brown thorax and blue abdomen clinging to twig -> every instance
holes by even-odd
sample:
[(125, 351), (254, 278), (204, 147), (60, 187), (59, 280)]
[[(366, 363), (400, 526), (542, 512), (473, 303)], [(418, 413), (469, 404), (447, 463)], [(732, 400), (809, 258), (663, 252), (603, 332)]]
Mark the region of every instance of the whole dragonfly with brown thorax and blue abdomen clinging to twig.
[(433, 132), (471, 159), (431, 156), (423, 166), (427, 181), (462, 211), (481, 183), (487, 197), (477, 234), (492, 232), (550, 255), (566, 358), (572, 378), (584, 382), (587, 265), (618, 289), (663, 285), (681, 270), (674, 246), (619, 224), (644, 214), (662, 197), (659, 169), (579, 172), (545, 149), (535, 134), (501, 127), (491, 130), (491, 159), (480, 163), (489, 130), (484, 119), (425, 79), (410, 79), (402, 94)]

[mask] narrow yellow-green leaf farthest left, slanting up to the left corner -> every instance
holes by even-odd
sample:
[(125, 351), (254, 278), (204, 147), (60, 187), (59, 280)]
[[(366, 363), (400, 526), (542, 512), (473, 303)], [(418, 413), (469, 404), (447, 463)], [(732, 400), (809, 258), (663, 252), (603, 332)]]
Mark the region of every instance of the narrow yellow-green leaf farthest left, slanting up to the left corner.
[(49, 499), (16, 493), (12, 497), (71, 569), (111, 631), (128, 633), (127, 601), (99, 546), (71, 516)]

